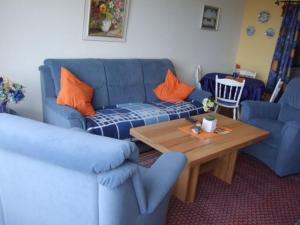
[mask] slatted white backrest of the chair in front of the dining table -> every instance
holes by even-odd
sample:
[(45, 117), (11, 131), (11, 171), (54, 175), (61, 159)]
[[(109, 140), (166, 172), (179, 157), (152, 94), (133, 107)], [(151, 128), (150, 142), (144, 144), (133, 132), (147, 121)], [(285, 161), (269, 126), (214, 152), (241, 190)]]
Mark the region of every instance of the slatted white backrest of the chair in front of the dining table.
[(239, 82), (233, 79), (220, 79), (218, 75), (216, 75), (216, 102), (225, 107), (238, 107), (244, 86), (245, 80)]

